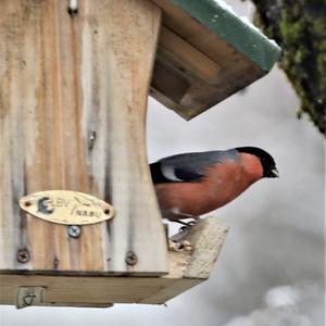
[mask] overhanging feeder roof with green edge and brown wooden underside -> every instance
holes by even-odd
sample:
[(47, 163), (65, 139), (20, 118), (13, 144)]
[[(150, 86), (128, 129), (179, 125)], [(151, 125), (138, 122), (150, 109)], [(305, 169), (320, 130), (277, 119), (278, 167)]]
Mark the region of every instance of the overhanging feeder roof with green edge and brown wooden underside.
[[(265, 75), (279, 55), (264, 35), (213, 1), (152, 1), (164, 27), (151, 95), (186, 120)], [(214, 63), (218, 73), (208, 73)]]

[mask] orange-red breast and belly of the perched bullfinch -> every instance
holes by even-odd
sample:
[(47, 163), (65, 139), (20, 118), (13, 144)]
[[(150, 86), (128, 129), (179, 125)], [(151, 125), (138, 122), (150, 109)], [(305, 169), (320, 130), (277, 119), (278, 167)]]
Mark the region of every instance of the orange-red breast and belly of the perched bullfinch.
[(155, 185), (161, 209), (178, 209), (191, 215), (202, 215), (234, 200), (263, 176), (255, 155), (240, 153), (239, 160), (225, 161), (203, 171), (199, 183), (166, 183)]

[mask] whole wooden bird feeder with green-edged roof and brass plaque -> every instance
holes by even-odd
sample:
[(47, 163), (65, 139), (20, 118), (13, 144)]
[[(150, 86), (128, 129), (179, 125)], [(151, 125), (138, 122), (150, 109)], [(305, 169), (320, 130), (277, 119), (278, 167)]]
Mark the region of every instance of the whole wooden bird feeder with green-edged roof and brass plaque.
[(148, 93), (189, 120), (277, 46), (212, 0), (2, 0), (0, 45), (0, 303), (163, 303), (206, 279), (227, 227), (168, 250)]

